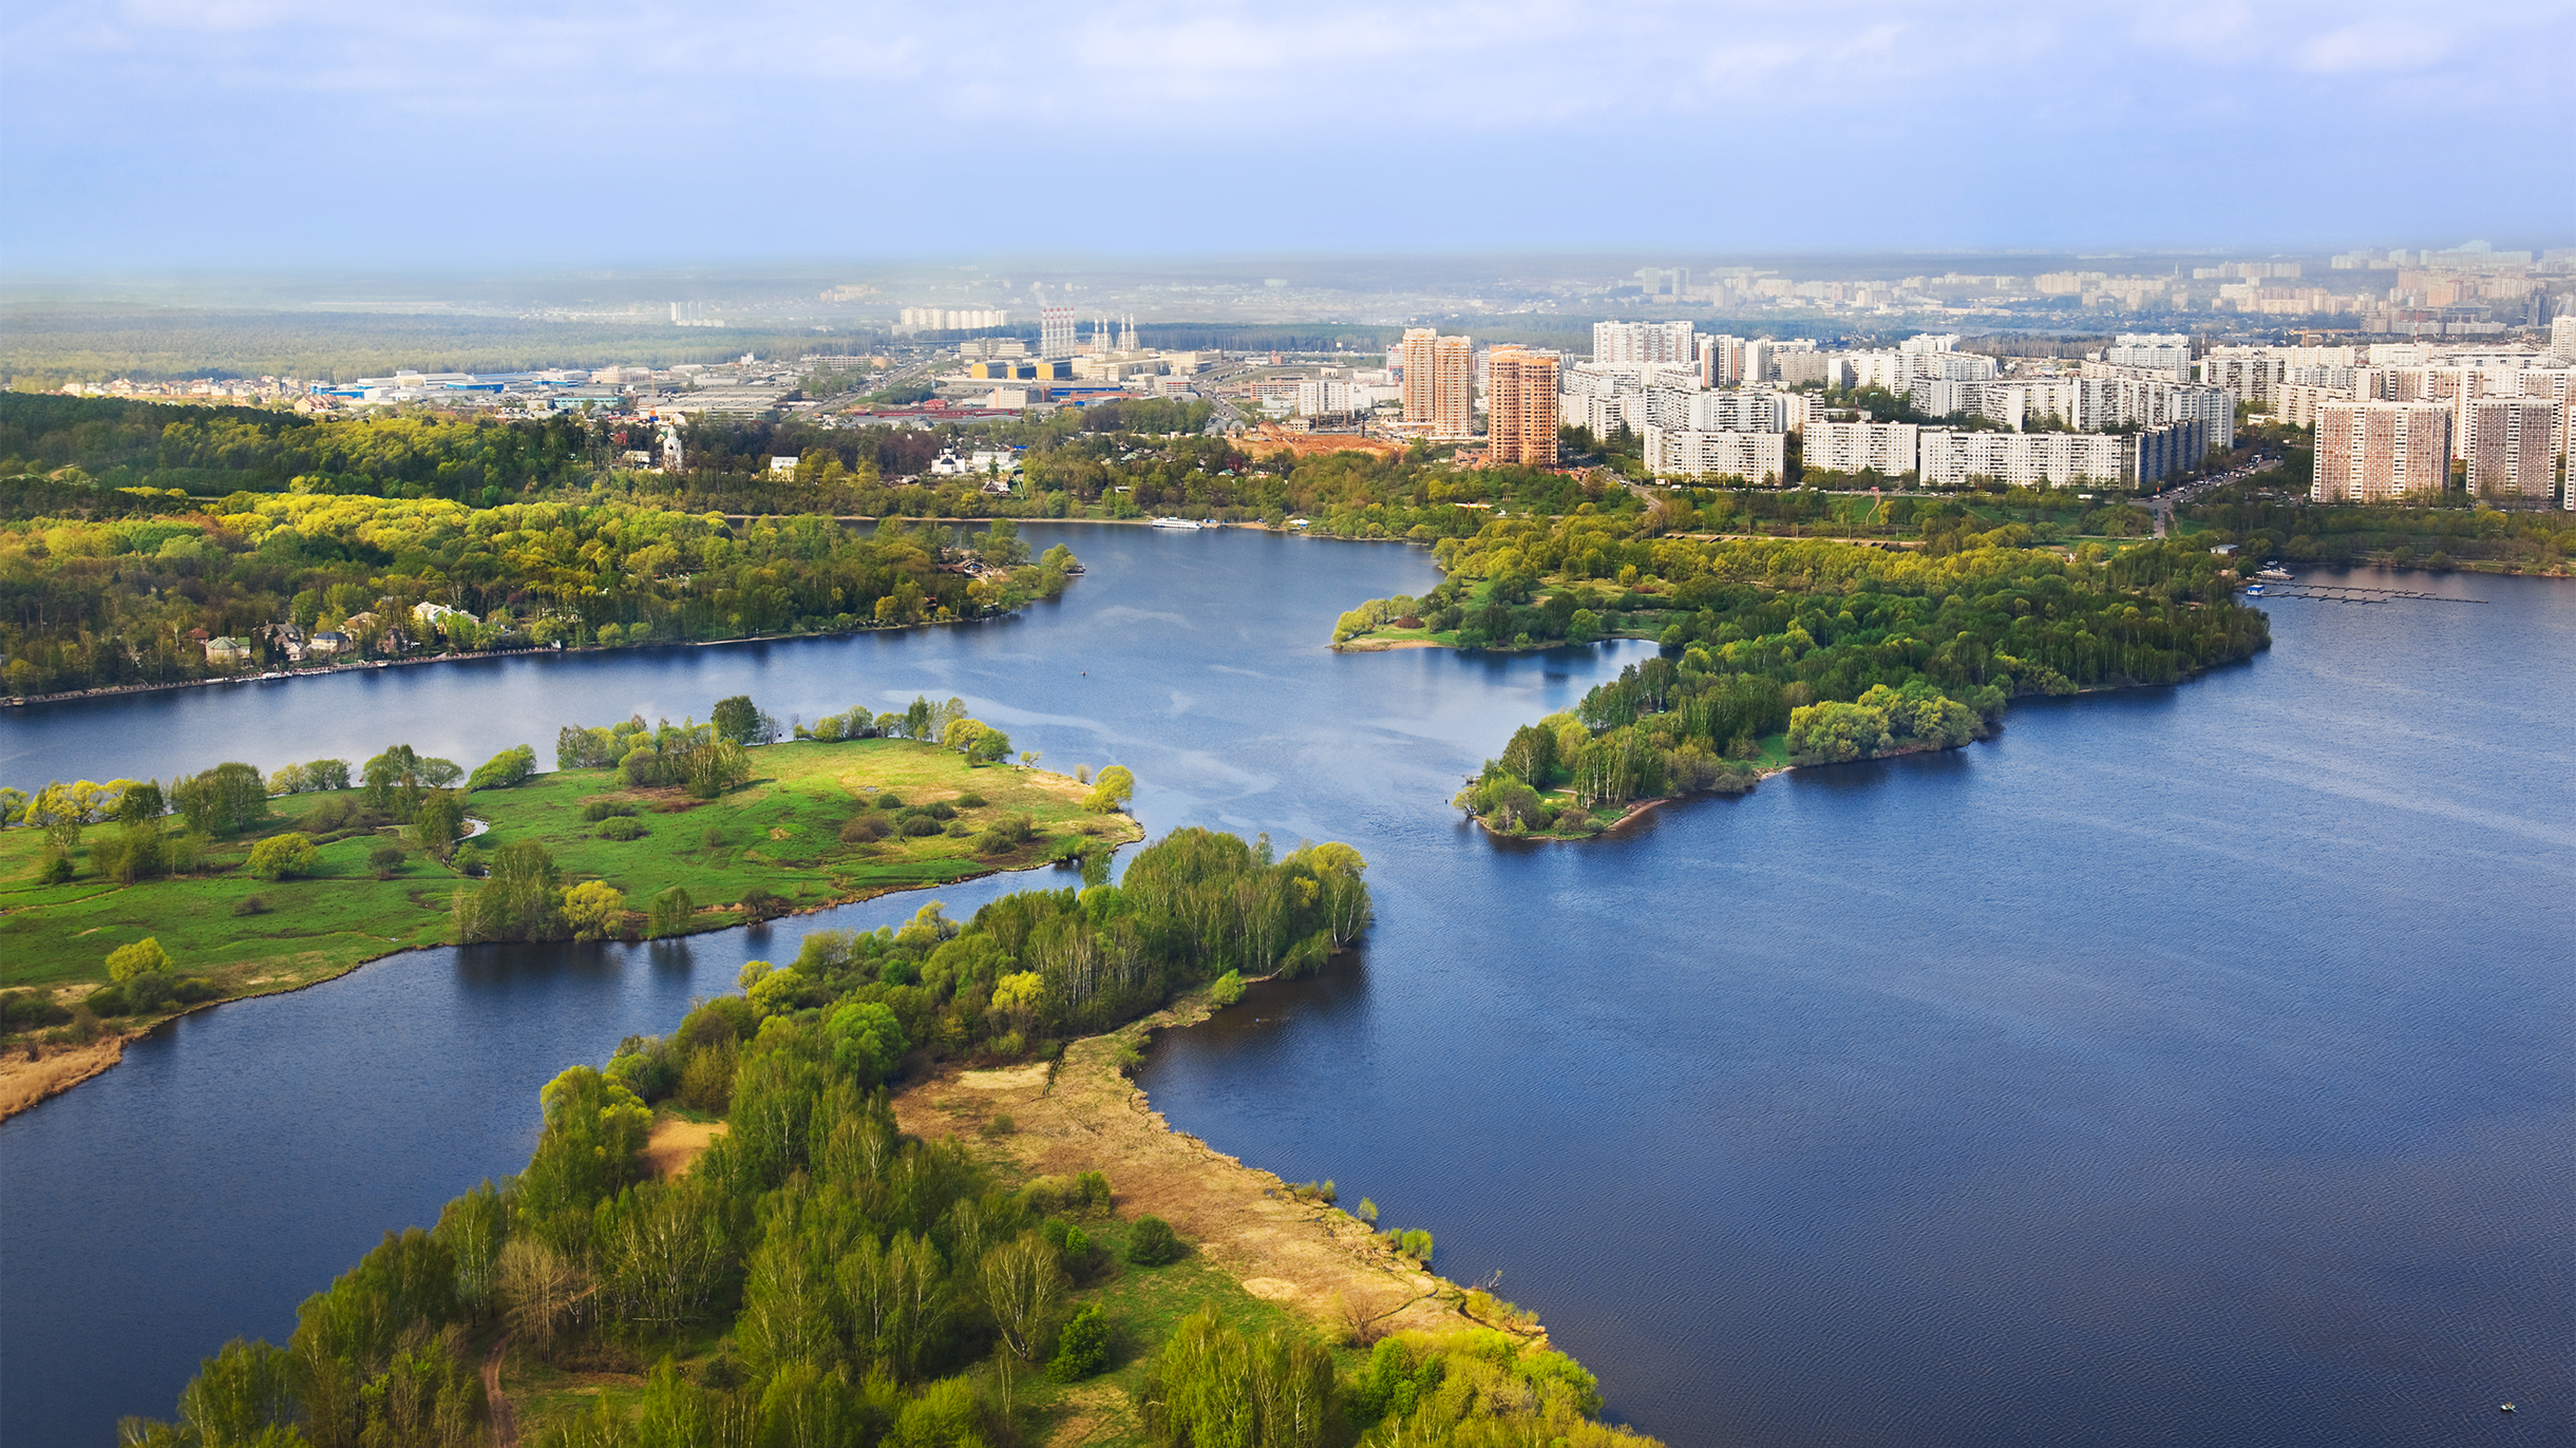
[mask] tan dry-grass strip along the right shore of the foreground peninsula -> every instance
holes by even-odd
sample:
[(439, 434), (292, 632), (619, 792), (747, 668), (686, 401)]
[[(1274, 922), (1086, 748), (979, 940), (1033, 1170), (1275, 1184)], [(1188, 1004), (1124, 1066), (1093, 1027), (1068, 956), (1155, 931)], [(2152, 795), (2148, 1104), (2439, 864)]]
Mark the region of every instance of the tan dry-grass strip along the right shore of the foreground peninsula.
[[(1118, 1054), (1154, 1028), (1206, 1018), (1206, 1007), (1185, 1010), (1069, 1043), (1054, 1082), (1043, 1064), (940, 1072), (896, 1095), (894, 1113), (920, 1136), (974, 1134), (1010, 1113), (1018, 1131), (994, 1141), (1030, 1172), (1108, 1172), (1121, 1216), (1162, 1216), (1244, 1291), (1327, 1332), (1463, 1327), (1463, 1288), (1399, 1257), (1355, 1216), (1291, 1198), (1280, 1177), (1172, 1131), (1151, 1110), (1118, 1072)], [(1538, 1327), (1522, 1335), (1546, 1340)]]

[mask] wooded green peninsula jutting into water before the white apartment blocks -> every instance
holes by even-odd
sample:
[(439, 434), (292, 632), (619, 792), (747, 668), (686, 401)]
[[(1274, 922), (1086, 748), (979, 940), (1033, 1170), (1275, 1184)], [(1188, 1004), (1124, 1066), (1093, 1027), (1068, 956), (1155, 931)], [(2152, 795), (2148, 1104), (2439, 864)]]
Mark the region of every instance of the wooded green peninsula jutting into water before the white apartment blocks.
[(1334, 647), (1656, 639), (1582, 706), (1525, 724), (1455, 804), (1497, 835), (1589, 837), (1793, 765), (1950, 750), (2027, 693), (2179, 683), (2269, 647), (2231, 562), (2190, 541), (2074, 551), (1932, 513), (1922, 549), (1494, 520), (1443, 541), (1425, 598), (1345, 613)]

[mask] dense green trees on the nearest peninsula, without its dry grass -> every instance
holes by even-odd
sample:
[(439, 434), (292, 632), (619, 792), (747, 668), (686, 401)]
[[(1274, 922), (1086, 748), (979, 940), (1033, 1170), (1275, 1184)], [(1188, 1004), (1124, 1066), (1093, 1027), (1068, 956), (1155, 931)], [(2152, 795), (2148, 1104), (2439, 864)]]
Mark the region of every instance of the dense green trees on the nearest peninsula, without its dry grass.
[[(286, 1348), (224, 1345), (175, 1425), (126, 1422), (124, 1440), (461, 1448), (484, 1430), (477, 1360), (510, 1332), (538, 1360), (652, 1366), (641, 1391), (536, 1425), (549, 1448), (1005, 1448), (1012, 1381), (1110, 1366), (1110, 1324), (1084, 1301), (1121, 1270), (1100, 1242), (1123, 1239), (1136, 1268), (1185, 1244), (1118, 1221), (1097, 1172), (1005, 1183), (956, 1139), (902, 1134), (886, 1082), (1048, 1054), (1195, 984), (1314, 969), (1368, 928), (1363, 868), (1347, 845), (1273, 858), (1267, 840), (1177, 830), (1115, 886), (806, 935), (670, 1036), (562, 1072), (520, 1175), (386, 1234), (304, 1304)], [(729, 1123), (675, 1180), (644, 1170), (657, 1103)], [(1157, 1353), (1146, 1402), (1172, 1445), (1636, 1443), (1597, 1409), (1589, 1373), (1499, 1332), (1404, 1335), (1337, 1363), (1306, 1332), (1206, 1311)]]

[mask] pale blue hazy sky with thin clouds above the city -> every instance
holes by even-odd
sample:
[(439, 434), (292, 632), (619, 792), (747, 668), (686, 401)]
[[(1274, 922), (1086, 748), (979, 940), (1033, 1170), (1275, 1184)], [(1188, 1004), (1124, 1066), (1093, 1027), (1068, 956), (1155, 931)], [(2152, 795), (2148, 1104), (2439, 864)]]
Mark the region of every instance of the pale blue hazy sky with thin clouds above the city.
[(2576, 240), (2576, 5), (10, 0), (0, 268)]

